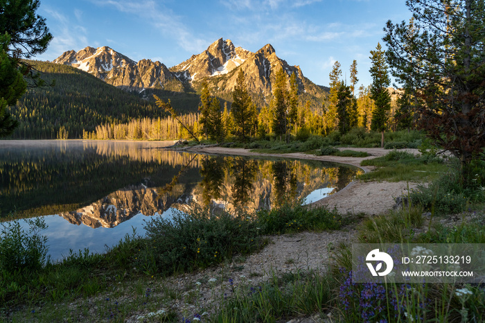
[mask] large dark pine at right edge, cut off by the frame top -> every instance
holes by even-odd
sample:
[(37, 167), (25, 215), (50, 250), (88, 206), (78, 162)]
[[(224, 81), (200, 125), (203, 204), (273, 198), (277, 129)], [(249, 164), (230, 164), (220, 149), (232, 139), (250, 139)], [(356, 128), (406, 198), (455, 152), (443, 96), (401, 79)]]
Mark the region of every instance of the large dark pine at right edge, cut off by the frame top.
[(407, 1), (414, 20), (387, 22), (392, 75), (412, 90), (420, 128), (468, 165), (485, 146), (485, 2)]

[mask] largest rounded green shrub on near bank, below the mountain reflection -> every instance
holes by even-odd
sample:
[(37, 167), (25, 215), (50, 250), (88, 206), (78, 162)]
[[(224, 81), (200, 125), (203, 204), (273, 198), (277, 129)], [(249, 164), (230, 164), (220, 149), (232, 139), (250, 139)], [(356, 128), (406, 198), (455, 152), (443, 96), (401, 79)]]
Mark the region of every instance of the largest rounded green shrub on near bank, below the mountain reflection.
[(173, 274), (207, 267), (262, 246), (257, 223), (246, 213), (195, 209), (173, 219), (153, 218), (145, 225), (146, 245), (139, 256), (145, 272)]

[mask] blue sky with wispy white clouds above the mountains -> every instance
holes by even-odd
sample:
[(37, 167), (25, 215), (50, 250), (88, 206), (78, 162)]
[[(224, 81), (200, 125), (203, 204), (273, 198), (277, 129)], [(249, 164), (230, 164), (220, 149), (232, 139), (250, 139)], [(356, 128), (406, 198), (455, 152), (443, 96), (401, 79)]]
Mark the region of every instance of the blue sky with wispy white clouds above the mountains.
[(249, 51), (272, 44), (276, 55), (304, 76), (328, 85), (335, 60), (349, 78), (369, 85), (369, 51), (382, 28), (411, 17), (405, 0), (41, 0), (37, 13), (54, 36), (39, 60), (64, 51), (109, 46), (133, 60), (173, 67), (223, 37)]

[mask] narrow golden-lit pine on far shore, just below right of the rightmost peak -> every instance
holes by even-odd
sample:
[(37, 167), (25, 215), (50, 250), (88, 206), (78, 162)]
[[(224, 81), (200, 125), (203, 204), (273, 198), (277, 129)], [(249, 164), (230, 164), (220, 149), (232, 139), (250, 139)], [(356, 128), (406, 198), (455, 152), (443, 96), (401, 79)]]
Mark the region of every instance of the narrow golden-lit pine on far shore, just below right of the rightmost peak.
[(276, 71), (276, 80), (273, 91), (274, 101), (274, 121), (273, 132), (279, 136), (280, 140), (283, 135), (286, 136), (288, 127), (288, 90), (286, 89), (286, 73), (283, 67)]

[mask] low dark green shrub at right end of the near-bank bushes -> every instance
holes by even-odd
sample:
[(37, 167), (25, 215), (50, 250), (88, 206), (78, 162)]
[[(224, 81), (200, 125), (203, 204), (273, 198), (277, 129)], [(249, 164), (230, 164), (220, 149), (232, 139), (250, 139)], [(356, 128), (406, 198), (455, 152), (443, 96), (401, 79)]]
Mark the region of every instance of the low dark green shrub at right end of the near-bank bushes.
[(259, 211), (258, 220), (264, 234), (339, 229), (342, 226), (342, 216), (335, 210), (289, 203), (271, 210)]

